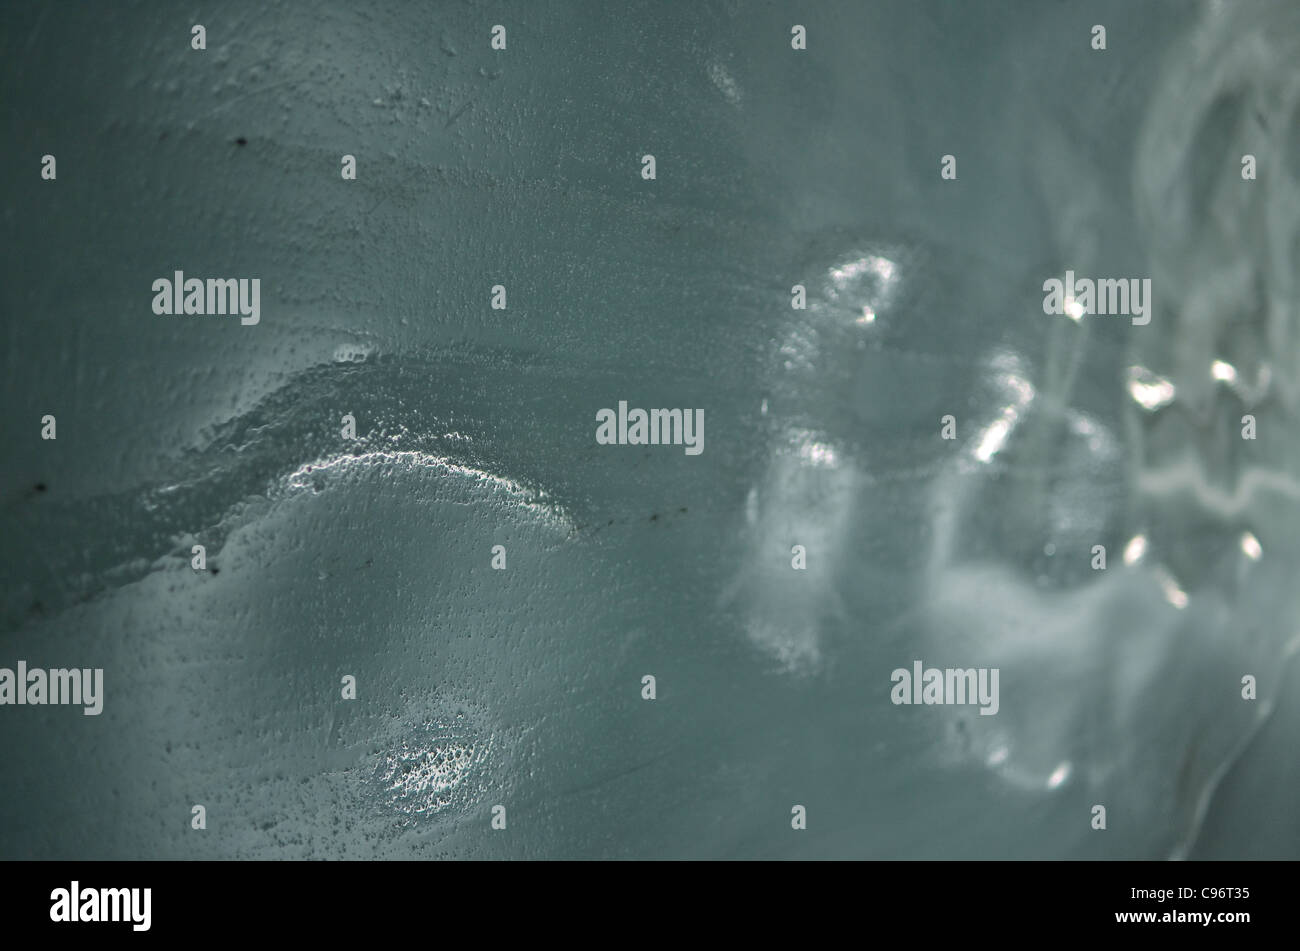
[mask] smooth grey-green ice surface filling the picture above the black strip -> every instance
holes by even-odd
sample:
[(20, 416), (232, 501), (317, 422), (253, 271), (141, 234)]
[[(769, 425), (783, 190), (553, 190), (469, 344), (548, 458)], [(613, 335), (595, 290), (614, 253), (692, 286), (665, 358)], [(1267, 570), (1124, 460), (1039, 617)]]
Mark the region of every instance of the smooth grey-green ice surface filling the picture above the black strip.
[(8, 14), (0, 857), (1300, 854), (1294, 4), (187, 16)]

